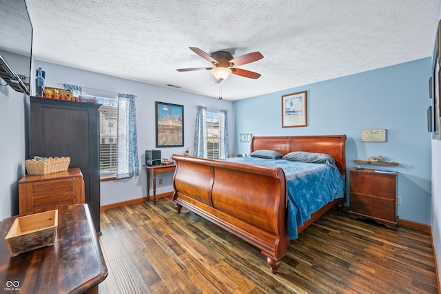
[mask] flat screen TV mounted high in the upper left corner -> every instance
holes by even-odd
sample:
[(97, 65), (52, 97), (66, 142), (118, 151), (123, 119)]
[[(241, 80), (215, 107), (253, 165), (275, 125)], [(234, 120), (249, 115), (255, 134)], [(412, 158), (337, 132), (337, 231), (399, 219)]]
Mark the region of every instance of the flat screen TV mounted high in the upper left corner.
[(28, 95), (31, 58), (32, 23), (25, 0), (0, 0), (0, 77)]

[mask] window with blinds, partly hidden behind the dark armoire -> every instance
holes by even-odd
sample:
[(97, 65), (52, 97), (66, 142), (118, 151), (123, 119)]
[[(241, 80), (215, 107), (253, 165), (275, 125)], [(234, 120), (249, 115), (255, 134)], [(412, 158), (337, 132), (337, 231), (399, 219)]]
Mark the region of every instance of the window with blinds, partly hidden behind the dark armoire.
[(118, 99), (83, 95), (102, 104), (99, 108), (99, 165), (100, 175), (116, 175), (116, 135), (118, 121)]

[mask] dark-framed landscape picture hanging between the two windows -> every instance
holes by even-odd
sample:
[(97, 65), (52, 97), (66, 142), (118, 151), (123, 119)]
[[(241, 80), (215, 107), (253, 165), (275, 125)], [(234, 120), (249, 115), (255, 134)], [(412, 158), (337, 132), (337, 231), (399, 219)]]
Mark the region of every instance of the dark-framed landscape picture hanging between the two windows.
[(155, 102), (156, 147), (184, 146), (184, 106)]

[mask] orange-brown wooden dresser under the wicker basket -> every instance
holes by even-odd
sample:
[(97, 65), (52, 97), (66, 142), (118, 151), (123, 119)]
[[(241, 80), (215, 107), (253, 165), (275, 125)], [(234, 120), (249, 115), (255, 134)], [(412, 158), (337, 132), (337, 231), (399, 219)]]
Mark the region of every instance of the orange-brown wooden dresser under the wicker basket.
[(81, 203), (85, 203), (84, 181), (79, 168), (49, 175), (25, 175), (19, 181), (20, 215)]

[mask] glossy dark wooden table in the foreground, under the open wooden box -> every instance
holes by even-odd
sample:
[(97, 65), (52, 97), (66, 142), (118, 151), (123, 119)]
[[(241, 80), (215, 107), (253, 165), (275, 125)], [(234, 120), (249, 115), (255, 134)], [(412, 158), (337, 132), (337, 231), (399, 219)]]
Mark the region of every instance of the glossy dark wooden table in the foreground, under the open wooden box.
[(88, 204), (59, 207), (53, 246), (10, 257), (4, 239), (17, 217), (0, 223), (0, 281), (8, 293), (98, 293), (107, 266)]

